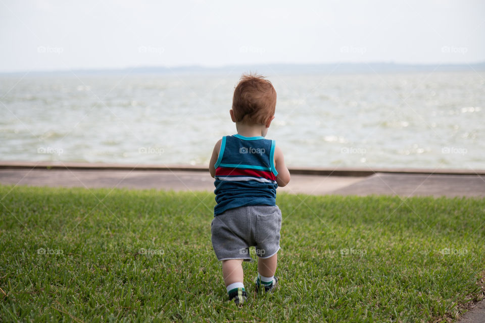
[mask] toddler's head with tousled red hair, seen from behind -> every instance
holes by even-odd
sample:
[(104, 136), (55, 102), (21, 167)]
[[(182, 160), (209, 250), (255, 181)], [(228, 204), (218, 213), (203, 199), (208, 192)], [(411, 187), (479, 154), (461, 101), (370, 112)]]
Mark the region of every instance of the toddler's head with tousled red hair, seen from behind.
[(270, 81), (257, 74), (243, 74), (232, 97), (234, 122), (268, 125), (276, 107), (276, 91)]

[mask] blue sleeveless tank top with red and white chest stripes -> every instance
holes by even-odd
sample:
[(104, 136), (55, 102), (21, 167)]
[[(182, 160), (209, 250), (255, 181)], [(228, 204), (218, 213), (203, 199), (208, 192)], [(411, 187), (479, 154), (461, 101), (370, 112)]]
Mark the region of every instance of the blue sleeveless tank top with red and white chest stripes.
[(276, 205), (274, 140), (262, 136), (225, 136), (217, 158), (214, 216), (248, 205)]

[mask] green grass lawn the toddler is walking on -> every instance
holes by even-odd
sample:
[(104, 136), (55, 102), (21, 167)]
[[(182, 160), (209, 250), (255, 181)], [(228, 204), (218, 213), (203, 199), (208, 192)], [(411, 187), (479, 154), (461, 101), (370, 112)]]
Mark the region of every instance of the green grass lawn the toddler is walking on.
[(256, 297), (245, 262), (240, 309), (212, 250), (212, 192), (0, 199), (0, 321), (434, 322), (483, 295), (485, 199), (278, 194), (280, 286)]

